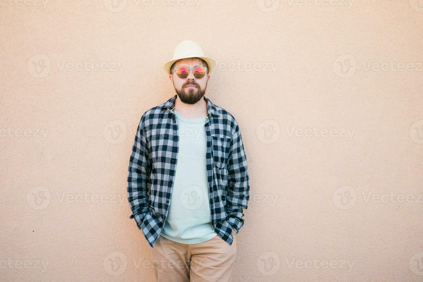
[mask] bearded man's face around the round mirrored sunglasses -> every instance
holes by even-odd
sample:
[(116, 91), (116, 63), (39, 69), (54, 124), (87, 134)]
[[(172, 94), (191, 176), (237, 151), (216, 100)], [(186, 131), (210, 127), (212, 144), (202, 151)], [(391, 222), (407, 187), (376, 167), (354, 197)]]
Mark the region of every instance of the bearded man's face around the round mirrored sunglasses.
[[(173, 68), (180, 65), (187, 66), (188, 68), (203, 66), (201, 60), (198, 58), (177, 60), (173, 64)], [(171, 71), (173, 71), (173, 68)], [(210, 79), (210, 74), (198, 79), (194, 77), (192, 70), (190, 70), (190, 74), (187, 78), (179, 78), (176, 75), (176, 71), (173, 71), (173, 73), (169, 75), (169, 78), (173, 82), (173, 86), (175, 87), (175, 91), (176, 94), (178, 94), (179, 99), (186, 104), (195, 104), (200, 101), (206, 93), (207, 81)]]

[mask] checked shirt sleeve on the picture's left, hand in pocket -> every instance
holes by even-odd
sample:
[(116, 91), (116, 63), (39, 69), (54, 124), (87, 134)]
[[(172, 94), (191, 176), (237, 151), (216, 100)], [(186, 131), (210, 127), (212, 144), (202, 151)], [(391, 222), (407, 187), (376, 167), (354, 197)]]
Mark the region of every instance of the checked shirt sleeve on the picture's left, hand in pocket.
[(148, 156), (148, 144), (144, 131), (144, 115), (135, 134), (134, 145), (128, 167), (128, 201), (132, 210), (130, 219), (134, 218), (138, 229), (141, 229), (144, 216), (148, 212), (148, 181), (151, 162)]

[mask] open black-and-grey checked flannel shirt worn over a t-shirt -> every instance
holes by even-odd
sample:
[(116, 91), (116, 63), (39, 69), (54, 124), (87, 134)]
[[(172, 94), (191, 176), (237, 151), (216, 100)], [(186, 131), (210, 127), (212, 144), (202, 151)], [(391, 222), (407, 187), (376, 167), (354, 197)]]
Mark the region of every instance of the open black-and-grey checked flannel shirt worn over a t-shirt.
[[(140, 120), (128, 167), (128, 201), (148, 244), (154, 247), (170, 206), (178, 164), (178, 122), (172, 112), (176, 95), (146, 111)], [(206, 169), (211, 223), (217, 235), (232, 244), (232, 230), (244, 224), (242, 210), (250, 198), (247, 158), (235, 118), (207, 101)], [(149, 189), (149, 194), (147, 191)]]

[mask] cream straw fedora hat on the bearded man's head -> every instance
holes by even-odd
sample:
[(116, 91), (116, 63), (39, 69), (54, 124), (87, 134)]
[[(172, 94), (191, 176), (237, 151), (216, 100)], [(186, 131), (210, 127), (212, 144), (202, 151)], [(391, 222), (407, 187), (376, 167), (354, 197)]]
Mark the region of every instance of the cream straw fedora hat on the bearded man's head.
[(213, 71), (216, 67), (216, 61), (211, 57), (205, 57), (200, 45), (192, 40), (184, 40), (176, 46), (175, 52), (173, 53), (173, 59), (167, 61), (163, 69), (168, 74), (170, 74), (170, 67), (177, 60), (193, 57), (198, 57), (206, 61), (207, 65), (209, 66), (207, 69), (207, 74), (211, 73), (211, 71)]

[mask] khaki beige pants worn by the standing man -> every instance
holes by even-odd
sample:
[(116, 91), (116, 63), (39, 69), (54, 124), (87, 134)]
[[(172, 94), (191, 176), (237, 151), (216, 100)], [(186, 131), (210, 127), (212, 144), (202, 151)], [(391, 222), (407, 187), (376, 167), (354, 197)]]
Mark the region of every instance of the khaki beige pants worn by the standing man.
[(198, 244), (181, 244), (163, 236), (149, 248), (157, 282), (231, 282), (236, 236), (229, 245), (219, 235)]

